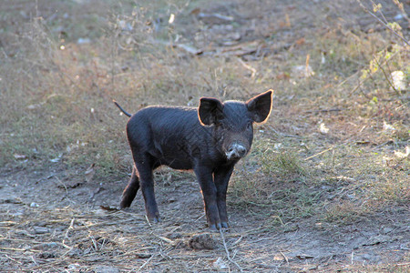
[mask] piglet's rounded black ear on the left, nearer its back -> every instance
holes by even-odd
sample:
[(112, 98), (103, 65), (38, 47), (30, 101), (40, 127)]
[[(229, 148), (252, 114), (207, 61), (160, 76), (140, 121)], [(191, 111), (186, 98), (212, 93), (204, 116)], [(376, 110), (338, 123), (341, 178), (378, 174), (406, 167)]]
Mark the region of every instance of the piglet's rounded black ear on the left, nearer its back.
[(201, 97), (198, 117), (203, 126), (217, 124), (223, 119), (223, 105), (220, 100), (213, 97)]

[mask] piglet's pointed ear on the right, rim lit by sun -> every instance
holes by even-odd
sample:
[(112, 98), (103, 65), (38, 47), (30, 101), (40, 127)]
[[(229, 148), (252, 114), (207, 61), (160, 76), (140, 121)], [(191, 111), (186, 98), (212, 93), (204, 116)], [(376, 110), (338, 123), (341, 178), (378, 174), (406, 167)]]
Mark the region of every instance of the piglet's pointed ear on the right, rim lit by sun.
[(246, 102), (246, 106), (251, 112), (251, 117), (254, 122), (264, 122), (271, 115), (272, 94), (273, 90), (270, 89), (258, 96), (252, 97)]

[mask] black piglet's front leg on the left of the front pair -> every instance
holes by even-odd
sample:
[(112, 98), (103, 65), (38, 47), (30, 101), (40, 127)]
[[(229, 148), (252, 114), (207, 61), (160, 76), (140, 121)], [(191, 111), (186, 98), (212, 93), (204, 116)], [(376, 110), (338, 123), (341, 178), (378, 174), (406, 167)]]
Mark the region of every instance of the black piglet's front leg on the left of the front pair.
[(205, 213), (210, 229), (220, 229), (220, 212), (217, 203), (217, 187), (213, 183), (212, 170), (209, 167), (195, 167), (203, 201), (205, 203)]

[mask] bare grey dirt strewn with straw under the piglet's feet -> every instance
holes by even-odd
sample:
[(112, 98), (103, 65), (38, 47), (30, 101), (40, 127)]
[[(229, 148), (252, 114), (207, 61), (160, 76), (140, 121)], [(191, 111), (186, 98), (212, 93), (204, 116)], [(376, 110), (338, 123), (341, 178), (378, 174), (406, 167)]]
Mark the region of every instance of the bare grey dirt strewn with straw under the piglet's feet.
[(209, 233), (193, 176), (157, 187), (162, 222), (153, 226), (145, 219), (139, 193), (128, 211), (114, 208), (125, 181), (101, 187), (97, 181), (69, 177), (65, 170), (3, 171), (0, 246), (5, 271), (406, 272), (409, 268), (408, 207), (392, 207), (345, 227), (306, 219), (275, 231), (264, 227), (258, 217), (229, 207), (231, 228), (224, 238), (240, 269), (227, 259), (218, 233), (207, 238), (214, 241), (214, 249), (190, 248), (190, 239)]

